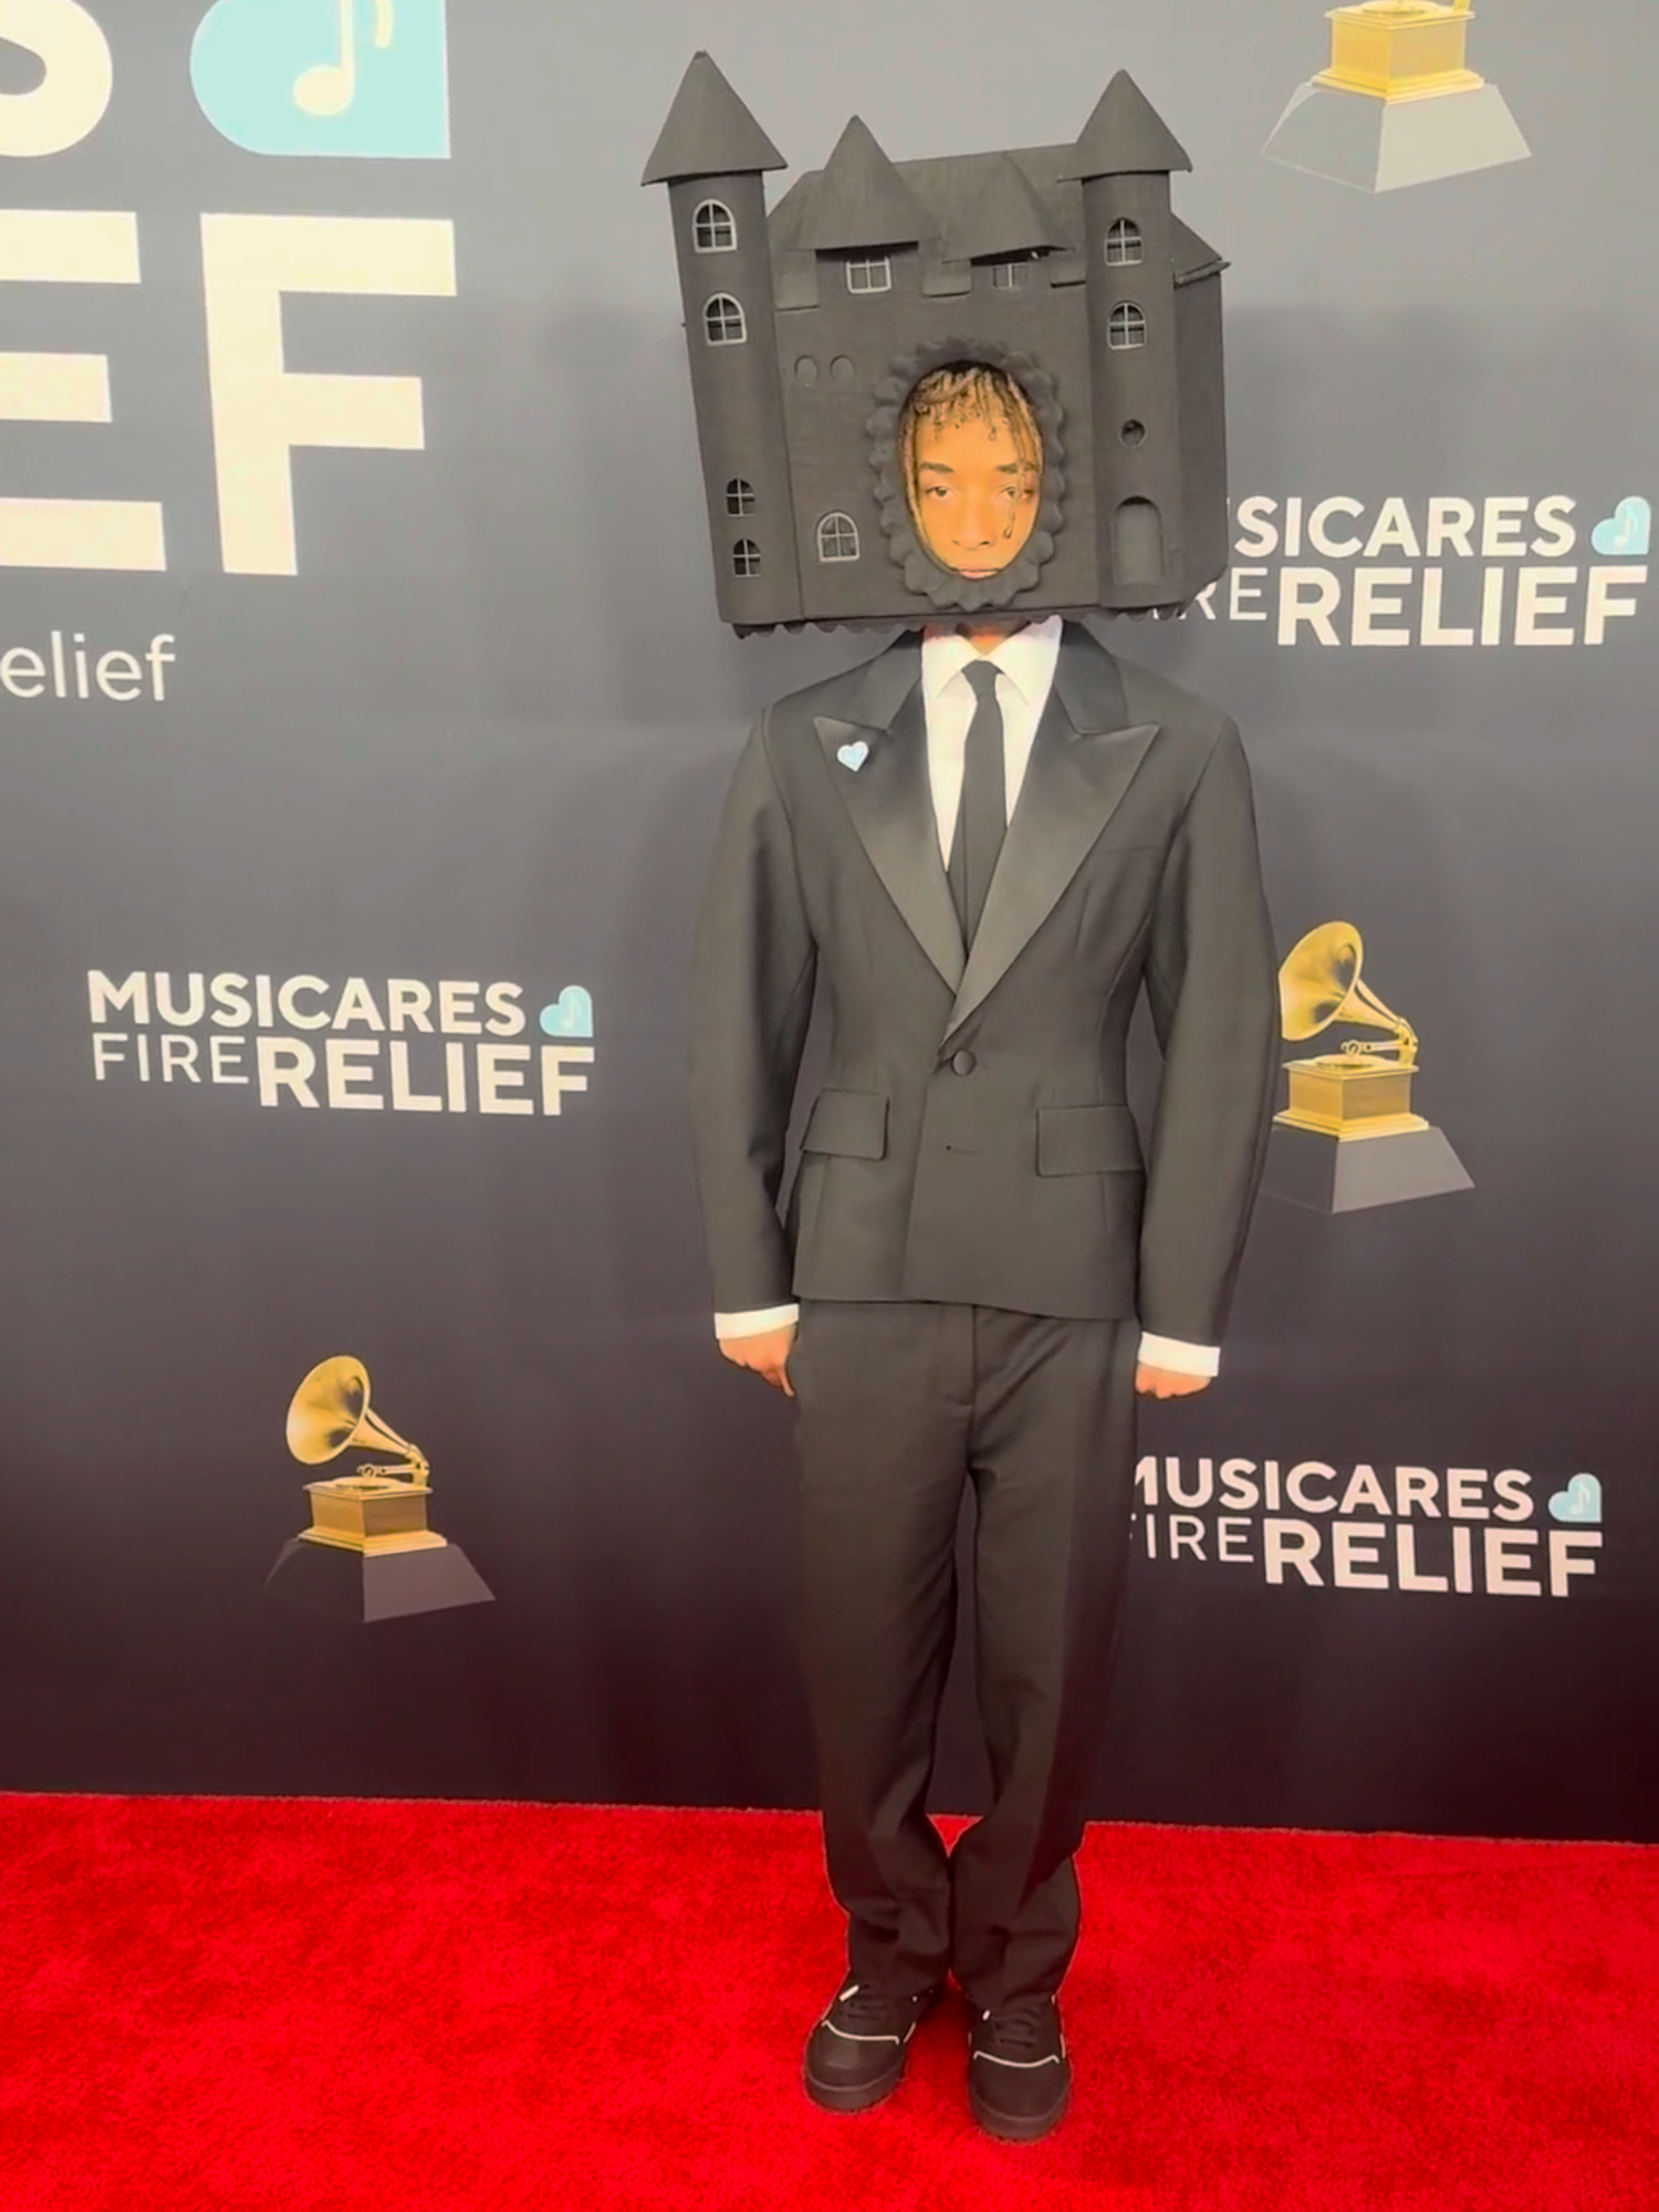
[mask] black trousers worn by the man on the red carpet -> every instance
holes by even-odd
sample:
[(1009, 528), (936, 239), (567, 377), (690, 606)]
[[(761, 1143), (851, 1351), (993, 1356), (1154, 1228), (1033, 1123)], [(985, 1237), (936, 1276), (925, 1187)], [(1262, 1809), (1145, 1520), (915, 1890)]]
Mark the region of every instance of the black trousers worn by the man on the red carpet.
[[(1117, 1321), (807, 1301), (790, 1356), (801, 1657), (849, 1969), (896, 1995), (1053, 1993), (1128, 1562), (1135, 1347)], [(927, 1818), (973, 1484), (975, 1683), (991, 1812)]]

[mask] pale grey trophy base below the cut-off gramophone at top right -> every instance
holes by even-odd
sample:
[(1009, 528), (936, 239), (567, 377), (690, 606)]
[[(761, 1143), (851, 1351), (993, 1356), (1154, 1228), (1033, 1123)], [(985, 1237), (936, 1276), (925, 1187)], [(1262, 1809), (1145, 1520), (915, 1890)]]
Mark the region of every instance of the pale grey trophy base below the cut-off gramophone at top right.
[(1358, 192), (1398, 192), (1526, 161), (1531, 146), (1495, 84), (1383, 100), (1314, 80), (1296, 88), (1263, 153)]

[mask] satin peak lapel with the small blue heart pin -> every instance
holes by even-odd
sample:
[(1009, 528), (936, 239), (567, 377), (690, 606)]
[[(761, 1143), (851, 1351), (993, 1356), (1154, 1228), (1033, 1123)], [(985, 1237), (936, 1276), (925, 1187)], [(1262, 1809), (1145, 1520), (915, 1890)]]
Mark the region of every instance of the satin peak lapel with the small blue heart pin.
[[(916, 942), (956, 991), (962, 982), (962, 929), (938, 852), (920, 686), (911, 686), (898, 701), (889, 728), (836, 721), (830, 714), (814, 714), (814, 723), (869, 865)], [(860, 745), (867, 748), (863, 759), (849, 765)]]

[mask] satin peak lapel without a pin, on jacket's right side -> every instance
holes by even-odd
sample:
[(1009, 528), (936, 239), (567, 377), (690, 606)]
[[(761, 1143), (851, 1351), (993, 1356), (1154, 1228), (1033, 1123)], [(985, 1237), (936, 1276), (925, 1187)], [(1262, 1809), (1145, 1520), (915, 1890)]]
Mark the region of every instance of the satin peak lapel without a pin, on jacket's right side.
[[(1086, 661), (1079, 670), (1075, 666), (1079, 653), (1097, 657), (1104, 668)], [(1071, 668), (1066, 666), (1068, 655), (1073, 655)], [(1157, 737), (1157, 723), (1141, 723), (1133, 730), (1079, 730), (1068, 712), (1071, 701), (1091, 719), (1104, 714), (1121, 721), (1124, 692), (1110, 655), (1093, 637), (1071, 648), (1068, 633), (1062, 668), (1048, 692), (1009, 836), (984, 900), (984, 916), (956, 987), (947, 1037), (967, 1022), (975, 1006), (984, 1004), (1048, 920), (1062, 891), (1117, 812), (1135, 770)]]

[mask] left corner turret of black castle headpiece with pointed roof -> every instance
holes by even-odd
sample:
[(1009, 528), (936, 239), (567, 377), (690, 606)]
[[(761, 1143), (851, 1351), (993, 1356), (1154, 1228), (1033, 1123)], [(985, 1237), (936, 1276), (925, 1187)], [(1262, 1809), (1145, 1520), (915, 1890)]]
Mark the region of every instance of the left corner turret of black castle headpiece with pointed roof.
[(721, 619), (801, 619), (763, 175), (783, 155), (706, 53), (641, 184), (668, 186)]

